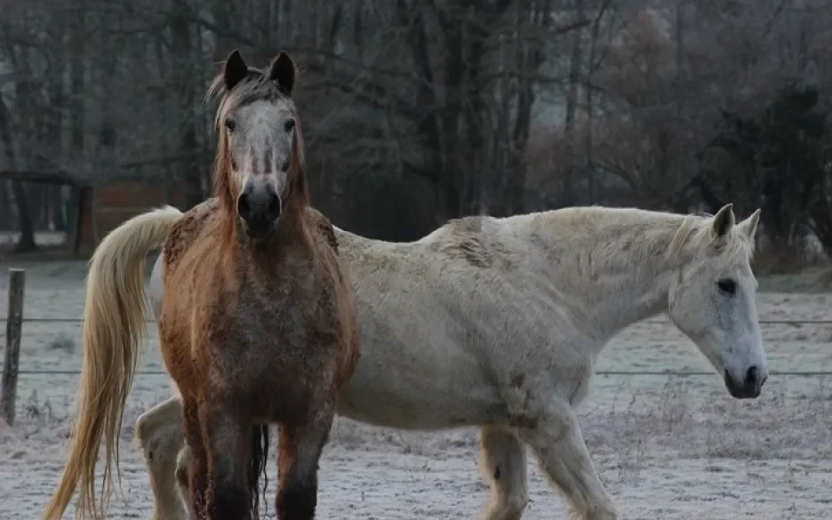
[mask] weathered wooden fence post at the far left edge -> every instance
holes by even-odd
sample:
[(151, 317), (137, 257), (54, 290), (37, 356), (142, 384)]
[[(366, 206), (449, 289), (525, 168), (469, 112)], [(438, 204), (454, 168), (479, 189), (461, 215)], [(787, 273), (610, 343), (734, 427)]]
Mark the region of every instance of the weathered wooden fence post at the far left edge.
[(3, 364), (3, 395), (0, 413), (11, 426), (17, 401), (17, 376), (20, 368), (20, 332), (23, 328), (23, 286), (25, 269), (9, 269), (9, 311), (6, 320), (6, 348)]

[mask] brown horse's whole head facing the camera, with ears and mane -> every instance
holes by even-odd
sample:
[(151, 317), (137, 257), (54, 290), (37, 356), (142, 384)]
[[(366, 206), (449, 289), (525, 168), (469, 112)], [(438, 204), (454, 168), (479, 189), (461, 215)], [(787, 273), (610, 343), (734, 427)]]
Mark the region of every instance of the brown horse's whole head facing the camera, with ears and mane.
[(217, 195), (253, 238), (276, 228), (292, 197), (306, 196), (303, 138), (291, 97), (295, 76), (285, 52), (264, 73), (234, 51), (210, 91), (224, 93), (216, 121)]

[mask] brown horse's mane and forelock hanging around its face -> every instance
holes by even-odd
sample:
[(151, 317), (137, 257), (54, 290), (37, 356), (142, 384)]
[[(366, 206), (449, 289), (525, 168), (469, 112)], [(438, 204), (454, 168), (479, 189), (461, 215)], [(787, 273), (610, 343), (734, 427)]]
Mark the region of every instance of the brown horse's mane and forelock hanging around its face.
[(233, 211), (234, 200), (231, 195), (231, 187), (228, 181), (229, 164), (228, 157), (228, 135), (221, 131), (222, 121), (228, 112), (256, 100), (284, 100), (286, 105), (292, 109), (295, 119), (295, 132), (292, 138), (292, 158), (289, 164), (291, 183), (289, 186), (289, 197), (295, 197), (297, 203), (303, 208), (309, 204), (309, 187), (304, 172), (306, 164), (306, 145), (303, 140), (303, 130), (300, 117), (297, 113), (294, 101), (291, 97), (280, 92), (274, 81), (268, 80), (266, 75), (259, 69), (249, 67), (248, 76), (233, 89), (228, 91), (223, 74), (220, 72), (214, 76), (205, 92), (205, 101), (220, 100), (214, 116), (214, 127), (218, 134), (217, 151), (214, 158), (213, 193), (220, 199), (220, 205), (225, 211)]

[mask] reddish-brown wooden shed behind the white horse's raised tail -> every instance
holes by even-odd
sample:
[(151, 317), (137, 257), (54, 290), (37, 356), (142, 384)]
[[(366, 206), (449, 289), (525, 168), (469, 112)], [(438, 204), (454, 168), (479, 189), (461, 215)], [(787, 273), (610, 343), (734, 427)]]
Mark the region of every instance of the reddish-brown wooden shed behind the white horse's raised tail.
[(188, 189), (178, 182), (150, 184), (122, 181), (84, 188), (84, 192), (78, 227), (82, 254), (91, 254), (110, 231), (142, 212), (164, 204), (179, 208), (188, 206)]

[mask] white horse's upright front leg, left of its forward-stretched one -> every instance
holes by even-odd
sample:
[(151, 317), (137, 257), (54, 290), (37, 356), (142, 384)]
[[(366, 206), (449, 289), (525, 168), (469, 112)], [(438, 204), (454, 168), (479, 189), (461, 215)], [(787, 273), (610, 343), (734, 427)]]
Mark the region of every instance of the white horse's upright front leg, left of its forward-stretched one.
[(491, 487), (483, 520), (520, 520), (529, 502), (525, 446), (520, 439), (506, 429), (482, 428), (480, 470)]

